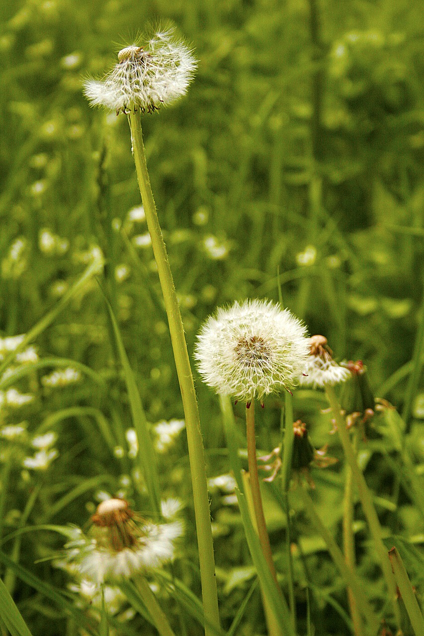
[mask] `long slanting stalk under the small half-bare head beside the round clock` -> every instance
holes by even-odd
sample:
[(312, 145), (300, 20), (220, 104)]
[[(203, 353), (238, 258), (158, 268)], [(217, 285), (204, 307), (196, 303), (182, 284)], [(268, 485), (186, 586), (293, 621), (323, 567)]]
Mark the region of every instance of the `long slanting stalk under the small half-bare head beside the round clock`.
[(379, 556), (381, 569), (383, 570), (383, 576), (386, 579), (390, 602), (393, 606), (393, 614), (395, 615), (397, 626), (400, 629), (400, 611), (396, 602), (396, 583), (393, 576), (392, 567), (390, 566), (387, 549), (385, 544), (383, 543), (379, 518), (376, 513), (376, 509), (374, 508), (371, 493), (369, 492), (369, 489), (367, 487), (367, 482), (365, 481), (364, 474), (362, 474), (362, 471), (358, 466), (355, 451), (353, 450), (350, 443), (349, 432), (346, 428), (344, 417), (341, 415), (340, 404), (337, 400), (334, 388), (327, 385), (325, 390), (327, 392), (327, 397), (329, 398), (332, 413), (334, 415), (334, 418), (336, 418), (337, 431), (339, 433), (339, 438), (343, 446), (344, 456), (346, 457), (346, 462), (348, 462), (351, 468), (353, 480), (355, 481), (355, 484), (358, 488), (358, 494), (362, 504), (362, 509), (364, 510), (364, 514), (367, 518), (372, 538), (374, 539), (376, 552)]

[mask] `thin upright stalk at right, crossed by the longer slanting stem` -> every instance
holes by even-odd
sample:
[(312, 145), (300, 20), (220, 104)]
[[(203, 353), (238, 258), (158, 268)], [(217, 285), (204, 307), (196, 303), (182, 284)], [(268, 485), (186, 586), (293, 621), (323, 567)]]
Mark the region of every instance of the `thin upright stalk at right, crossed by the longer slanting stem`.
[[(353, 440), (353, 448), (357, 452), (357, 436)], [(353, 475), (349, 464), (346, 466), (346, 481), (344, 484), (344, 502), (343, 502), (343, 551), (344, 559), (348, 567), (355, 571), (355, 537), (353, 536)], [(353, 622), (353, 630), (355, 636), (362, 636), (362, 620), (358, 608), (355, 594), (351, 588), (348, 588), (348, 601), (350, 607), (350, 615)]]

